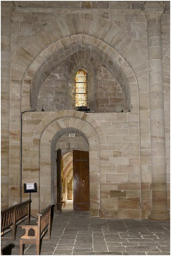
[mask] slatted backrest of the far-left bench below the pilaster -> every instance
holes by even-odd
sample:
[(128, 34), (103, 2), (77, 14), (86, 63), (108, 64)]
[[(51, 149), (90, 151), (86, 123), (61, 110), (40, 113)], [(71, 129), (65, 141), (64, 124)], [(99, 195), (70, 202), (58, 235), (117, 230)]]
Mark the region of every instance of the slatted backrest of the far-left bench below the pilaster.
[(1, 232), (29, 214), (30, 199), (1, 211)]

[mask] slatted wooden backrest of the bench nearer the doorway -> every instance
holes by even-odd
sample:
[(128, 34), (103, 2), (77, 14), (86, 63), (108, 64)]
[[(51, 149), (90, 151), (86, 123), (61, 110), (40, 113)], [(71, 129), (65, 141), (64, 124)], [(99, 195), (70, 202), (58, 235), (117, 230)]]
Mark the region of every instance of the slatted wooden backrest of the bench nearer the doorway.
[[(47, 229), (50, 232), (50, 216), (51, 216), (51, 207), (49, 205), (45, 208), (41, 213), (38, 213), (38, 229), (37, 229), (37, 237), (41, 238), (41, 236), (45, 233)], [(50, 234), (48, 234), (49, 236)]]

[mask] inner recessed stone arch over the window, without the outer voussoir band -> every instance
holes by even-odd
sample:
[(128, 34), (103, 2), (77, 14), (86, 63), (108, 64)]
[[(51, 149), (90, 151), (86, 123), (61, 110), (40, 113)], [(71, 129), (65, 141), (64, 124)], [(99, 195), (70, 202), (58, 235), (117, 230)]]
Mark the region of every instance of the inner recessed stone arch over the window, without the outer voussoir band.
[[(52, 46), (49, 46), (49, 48), (52, 48)], [(26, 98), (29, 96), (28, 94), (26, 96), (22, 93), (24, 97), (24, 101), (22, 101), (23, 109), (28, 109), (30, 107), (32, 109), (36, 108), (39, 89), (41, 88), (41, 85), (47, 76), (66, 59), (83, 49), (89, 52), (96, 61), (99, 61), (99, 63), (102, 64), (102, 66), (104, 66), (115, 77), (122, 88), (126, 109), (131, 108), (131, 92), (134, 95), (137, 94), (138, 103), (138, 89), (136, 88), (135, 90), (134, 86), (137, 84), (137, 81), (132, 69), (128, 63), (126, 63), (124, 58), (121, 57), (121, 55), (119, 55), (111, 46), (100, 41), (99, 39), (92, 40), (92, 38), (88, 35), (73, 35), (71, 37), (62, 39), (61, 41), (57, 41), (55, 47), (53, 45), (54, 53), (50, 54), (50, 56), (41, 65), (39, 65), (38, 69), (35, 70), (35, 66), (37, 65), (35, 61), (33, 65), (31, 65), (31, 67), (28, 69), (24, 78), (23, 89), (26, 91), (24, 85), (28, 87), (29, 84), (30, 99)], [(52, 52), (52, 50), (49, 51)], [(62, 54), (62, 59), (58, 54), (58, 52), (61, 51), (64, 52), (64, 54)], [(65, 52), (67, 52), (67, 54), (65, 54)], [(133, 87), (133, 89), (131, 87)], [(30, 104), (27, 102), (30, 102)], [(132, 105), (133, 104), (134, 102)]]

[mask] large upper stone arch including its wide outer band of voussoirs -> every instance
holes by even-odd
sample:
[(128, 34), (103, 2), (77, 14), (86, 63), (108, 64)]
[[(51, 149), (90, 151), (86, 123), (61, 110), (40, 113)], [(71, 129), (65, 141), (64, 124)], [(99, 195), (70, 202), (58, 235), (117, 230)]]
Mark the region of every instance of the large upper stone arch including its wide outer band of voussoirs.
[[(130, 90), (131, 99), (130, 95), (125, 96), (128, 98), (127, 106), (132, 104), (133, 110), (134, 106), (137, 110), (135, 97), (138, 102), (138, 87), (134, 69), (141, 67), (143, 73), (147, 69), (147, 61), (121, 28), (91, 14), (59, 16), (35, 31), (16, 51), (11, 60), (11, 86), (15, 84), (18, 94), (22, 93), (22, 110), (30, 108), (30, 87), (35, 83), (33, 77), (36, 80), (36, 76), (41, 74), (37, 77), (42, 84), (56, 65), (83, 47), (89, 49), (93, 57), (98, 57), (104, 67), (113, 71), (118, 82)], [(48, 64), (52, 63), (52, 67), (45, 65), (47, 60)], [(20, 68), (16, 67), (16, 62)], [(35, 95), (33, 102), (36, 102)], [(11, 96), (15, 98), (16, 94)]]

